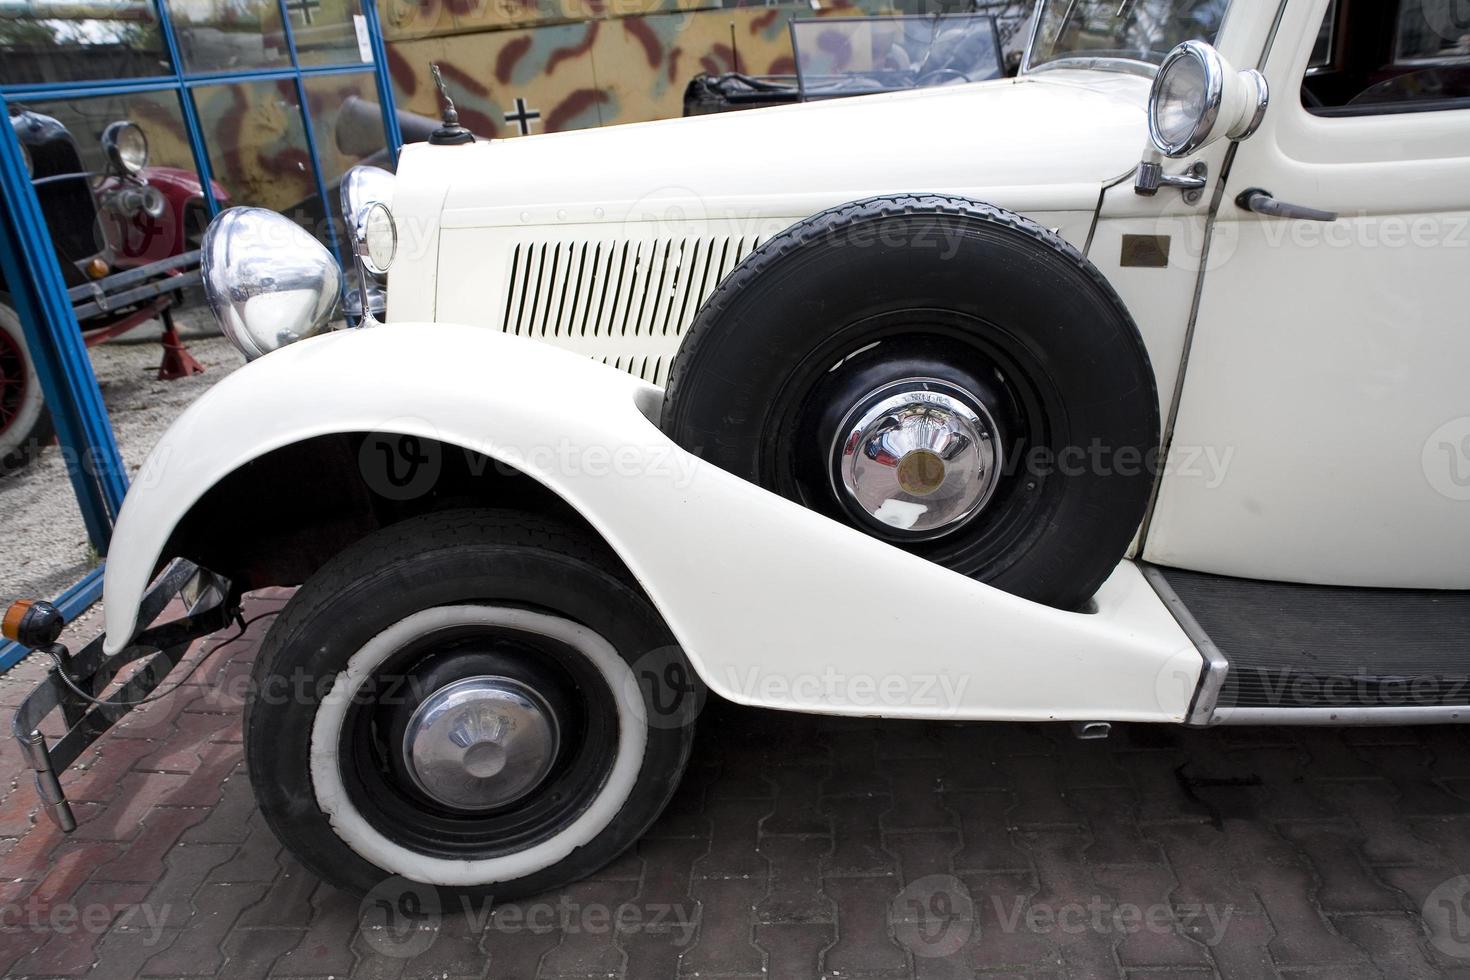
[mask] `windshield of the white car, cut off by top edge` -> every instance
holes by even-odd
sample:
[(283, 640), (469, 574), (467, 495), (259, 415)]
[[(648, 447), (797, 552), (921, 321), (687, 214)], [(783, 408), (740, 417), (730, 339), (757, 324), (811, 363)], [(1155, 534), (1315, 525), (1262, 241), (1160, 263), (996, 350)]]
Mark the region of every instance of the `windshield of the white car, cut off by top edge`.
[(1214, 41), (1230, 0), (1041, 0), (1028, 68), (1117, 59), (1157, 68), (1180, 41)]

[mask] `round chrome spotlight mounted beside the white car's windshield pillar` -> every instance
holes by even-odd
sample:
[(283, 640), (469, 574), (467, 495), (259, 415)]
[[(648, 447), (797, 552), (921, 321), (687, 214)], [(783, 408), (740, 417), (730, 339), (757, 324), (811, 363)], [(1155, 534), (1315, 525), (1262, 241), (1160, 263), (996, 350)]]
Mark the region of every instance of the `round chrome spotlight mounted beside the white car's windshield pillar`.
[(1148, 97), (1148, 135), (1160, 153), (1182, 157), (1225, 135), (1244, 140), (1266, 115), (1266, 76), (1236, 71), (1204, 41), (1185, 41), (1164, 59)]

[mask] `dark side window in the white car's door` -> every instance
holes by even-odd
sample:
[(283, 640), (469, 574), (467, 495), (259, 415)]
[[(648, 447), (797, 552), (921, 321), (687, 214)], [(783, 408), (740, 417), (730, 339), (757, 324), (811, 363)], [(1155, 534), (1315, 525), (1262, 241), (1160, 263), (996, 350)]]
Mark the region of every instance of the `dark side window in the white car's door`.
[(1470, 109), (1470, 4), (1333, 0), (1301, 101), (1320, 116)]

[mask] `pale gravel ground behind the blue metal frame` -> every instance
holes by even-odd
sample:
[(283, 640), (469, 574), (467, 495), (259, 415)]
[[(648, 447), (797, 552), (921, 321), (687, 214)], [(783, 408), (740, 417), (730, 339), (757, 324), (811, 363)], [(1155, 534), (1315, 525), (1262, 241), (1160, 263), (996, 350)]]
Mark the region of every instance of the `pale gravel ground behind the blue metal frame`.
[[(191, 401), (245, 363), (219, 336), (206, 307), (182, 310), (175, 322), (190, 353), (204, 364), (203, 375), (157, 381), (162, 353), (151, 325), (91, 348), (129, 476)], [(18, 597), (54, 598), (96, 563), (59, 445), (0, 479), (0, 607)]]

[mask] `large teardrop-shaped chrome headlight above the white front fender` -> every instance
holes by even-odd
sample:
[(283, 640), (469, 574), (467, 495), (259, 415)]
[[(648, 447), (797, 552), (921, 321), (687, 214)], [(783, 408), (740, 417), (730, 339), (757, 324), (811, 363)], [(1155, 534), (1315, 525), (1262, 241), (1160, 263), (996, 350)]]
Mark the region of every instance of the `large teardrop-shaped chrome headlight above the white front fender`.
[(232, 207), (210, 222), (200, 273), (220, 331), (245, 360), (320, 334), (341, 292), (332, 253), (260, 207)]

